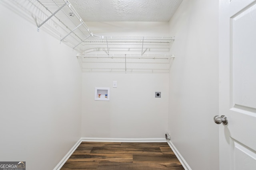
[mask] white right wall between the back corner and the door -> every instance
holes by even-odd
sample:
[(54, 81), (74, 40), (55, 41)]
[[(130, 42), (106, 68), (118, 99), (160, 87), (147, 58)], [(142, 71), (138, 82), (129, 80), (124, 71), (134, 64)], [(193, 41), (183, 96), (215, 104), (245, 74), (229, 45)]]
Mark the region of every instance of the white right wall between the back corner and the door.
[(171, 141), (192, 170), (217, 170), (218, 1), (183, 0), (170, 20)]

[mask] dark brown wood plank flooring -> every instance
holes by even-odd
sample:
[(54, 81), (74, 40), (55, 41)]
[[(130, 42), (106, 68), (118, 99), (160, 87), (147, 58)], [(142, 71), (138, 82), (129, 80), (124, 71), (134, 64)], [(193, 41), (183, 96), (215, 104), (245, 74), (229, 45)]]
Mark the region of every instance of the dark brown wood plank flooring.
[(82, 142), (61, 170), (184, 170), (167, 143)]

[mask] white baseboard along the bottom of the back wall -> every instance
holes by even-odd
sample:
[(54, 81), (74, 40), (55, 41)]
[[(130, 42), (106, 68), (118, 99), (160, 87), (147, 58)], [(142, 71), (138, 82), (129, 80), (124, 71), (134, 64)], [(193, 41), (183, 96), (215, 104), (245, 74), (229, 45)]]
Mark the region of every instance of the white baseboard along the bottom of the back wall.
[(165, 138), (93, 138), (82, 137), (82, 142), (166, 142)]

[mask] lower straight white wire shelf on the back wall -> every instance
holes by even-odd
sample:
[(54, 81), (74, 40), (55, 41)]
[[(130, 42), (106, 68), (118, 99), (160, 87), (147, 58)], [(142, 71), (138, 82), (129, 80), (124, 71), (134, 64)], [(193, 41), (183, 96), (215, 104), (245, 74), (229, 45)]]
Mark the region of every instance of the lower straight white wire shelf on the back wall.
[(83, 72), (169, 72), (174, 55), (77, 54)]

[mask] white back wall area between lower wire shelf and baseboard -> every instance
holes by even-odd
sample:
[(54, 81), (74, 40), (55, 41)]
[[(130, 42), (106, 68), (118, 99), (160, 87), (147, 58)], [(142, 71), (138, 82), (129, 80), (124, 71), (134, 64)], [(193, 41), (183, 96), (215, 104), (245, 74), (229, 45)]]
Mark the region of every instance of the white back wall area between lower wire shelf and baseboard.
[[(82, 80), (82, 137), (165, 137), (168, 74), (83, 73)], [(95, 101), (95, 87), (110, 87), (110, 101)]]

